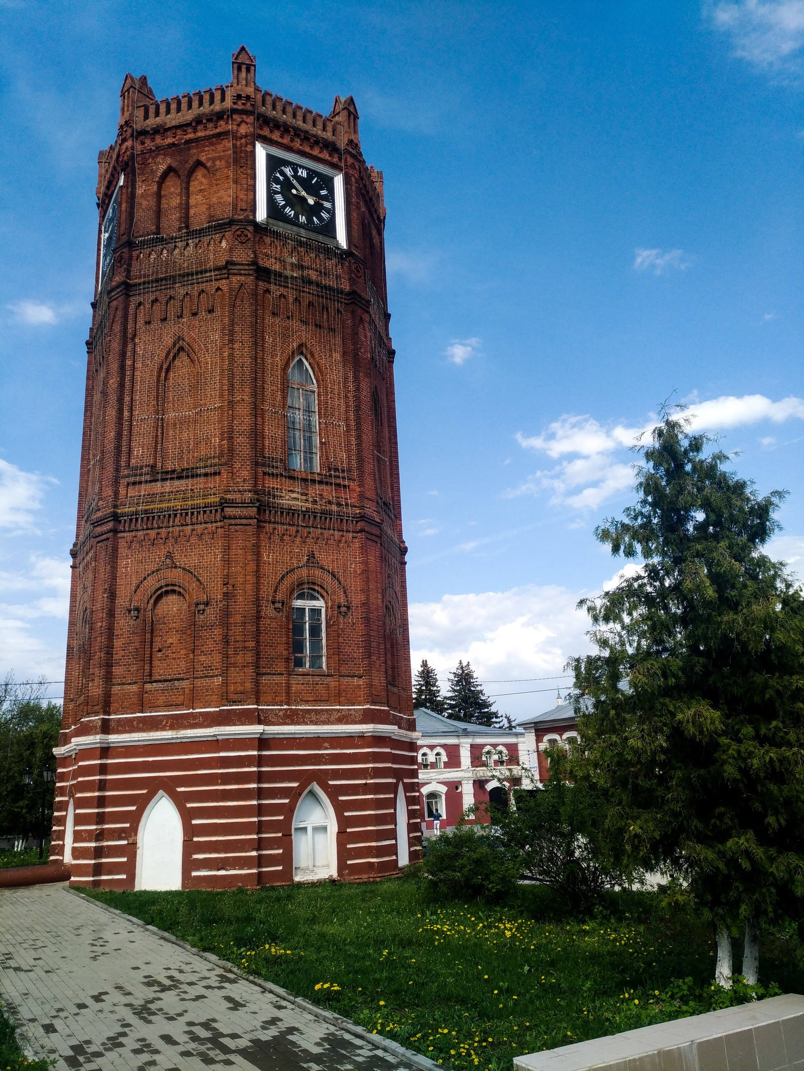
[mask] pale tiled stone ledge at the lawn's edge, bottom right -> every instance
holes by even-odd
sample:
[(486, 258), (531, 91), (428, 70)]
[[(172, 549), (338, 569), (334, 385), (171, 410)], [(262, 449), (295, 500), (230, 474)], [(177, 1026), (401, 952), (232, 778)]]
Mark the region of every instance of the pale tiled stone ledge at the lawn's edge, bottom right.
[(517, 1071), (804, 1071), (804, 996), (690, 1015), (513, 1060)]

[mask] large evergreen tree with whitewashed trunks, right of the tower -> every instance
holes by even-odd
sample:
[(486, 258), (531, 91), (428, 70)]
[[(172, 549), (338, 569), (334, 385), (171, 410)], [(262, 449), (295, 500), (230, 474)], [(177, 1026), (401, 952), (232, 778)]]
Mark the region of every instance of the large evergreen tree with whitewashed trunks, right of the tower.
[(591, 703), (570, 764), (626, 868), (683, 876), (728, 986), (731, 929), (754, 983), (758, 927), (804, 896), (804, 599), (760, 549), (784, 494), (760, 497), (710, 442), (666, 416), (636, 504), (596, 531), (643, 564), (582, 603), (597, 653), (574, 660)]

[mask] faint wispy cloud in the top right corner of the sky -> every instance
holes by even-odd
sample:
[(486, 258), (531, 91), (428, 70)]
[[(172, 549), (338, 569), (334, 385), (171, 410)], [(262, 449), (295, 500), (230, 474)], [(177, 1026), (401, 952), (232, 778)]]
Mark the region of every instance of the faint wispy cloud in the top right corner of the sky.
[(734, 56), (761, 67), (798, 67), (804, 47), (804, 0), (721, 0), (708, 4)]

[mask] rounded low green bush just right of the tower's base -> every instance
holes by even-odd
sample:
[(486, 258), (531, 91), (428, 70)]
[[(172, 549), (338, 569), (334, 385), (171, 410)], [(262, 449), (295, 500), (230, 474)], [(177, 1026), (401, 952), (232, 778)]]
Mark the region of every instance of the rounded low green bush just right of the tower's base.
[(425, 844), (425, 873), (436, 895), (496, 902), (517, 881), (517, 869), (477, 826), (458, 825)]

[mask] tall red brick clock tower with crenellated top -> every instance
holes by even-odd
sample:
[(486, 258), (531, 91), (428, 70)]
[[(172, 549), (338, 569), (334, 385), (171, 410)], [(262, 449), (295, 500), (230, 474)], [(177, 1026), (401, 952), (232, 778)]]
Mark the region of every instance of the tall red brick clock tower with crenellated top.
[(393, 873), (419, 846), (383, 177), (329, 116), (126, 75), (100, 153), (51, 858)]

